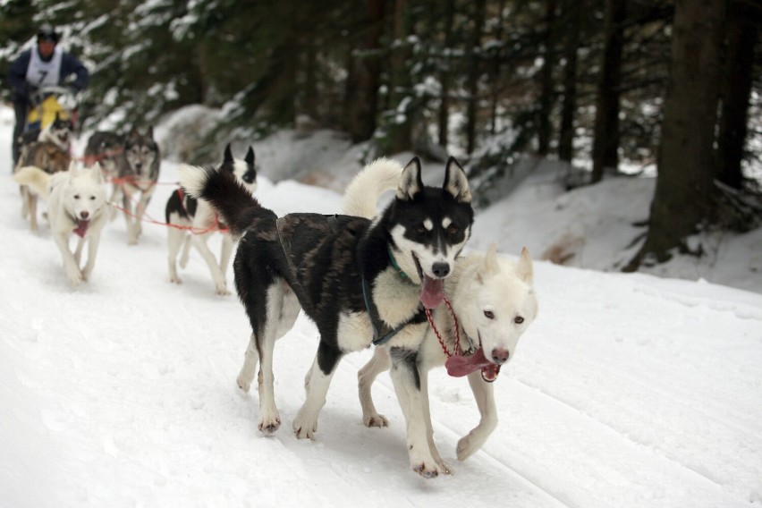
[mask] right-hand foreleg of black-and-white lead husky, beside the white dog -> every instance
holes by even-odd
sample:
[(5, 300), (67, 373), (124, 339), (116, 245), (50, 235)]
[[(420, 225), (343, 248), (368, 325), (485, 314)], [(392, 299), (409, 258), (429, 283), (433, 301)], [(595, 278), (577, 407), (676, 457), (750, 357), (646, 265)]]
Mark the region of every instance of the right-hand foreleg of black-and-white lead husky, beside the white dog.
[(421, 384), (416, 365), (416, 351), (392, 348), (390, 375), (394, 391), (407, 422), (408, 453), (411, 468), (424, 478), (436, 478), (445, 472), (431, 454), (428, 445), (425, 411), (421, 399)]

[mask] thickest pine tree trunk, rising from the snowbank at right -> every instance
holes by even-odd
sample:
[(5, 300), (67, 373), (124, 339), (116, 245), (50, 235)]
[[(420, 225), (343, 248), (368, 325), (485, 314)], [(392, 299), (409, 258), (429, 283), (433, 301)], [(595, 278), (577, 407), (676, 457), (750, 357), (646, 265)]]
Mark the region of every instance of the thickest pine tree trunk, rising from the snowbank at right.
[(678, 0), (665, 98), (656, 192), (648, 237), (626, 269), (647, 257), (664, 262), (715, 215), (715, 125), (720, 90), (724, 0)]

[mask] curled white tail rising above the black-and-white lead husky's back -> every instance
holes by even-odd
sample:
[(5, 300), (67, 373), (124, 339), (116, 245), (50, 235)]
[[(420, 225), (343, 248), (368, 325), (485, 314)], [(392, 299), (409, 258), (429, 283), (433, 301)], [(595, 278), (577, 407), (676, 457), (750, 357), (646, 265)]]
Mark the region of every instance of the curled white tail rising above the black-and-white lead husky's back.
[(372, 219), (377, 215), (378, 199), (386, 190), (400, 186), (402, 165), (386, 157), (362, 168), (344, 192), (344, 213)]

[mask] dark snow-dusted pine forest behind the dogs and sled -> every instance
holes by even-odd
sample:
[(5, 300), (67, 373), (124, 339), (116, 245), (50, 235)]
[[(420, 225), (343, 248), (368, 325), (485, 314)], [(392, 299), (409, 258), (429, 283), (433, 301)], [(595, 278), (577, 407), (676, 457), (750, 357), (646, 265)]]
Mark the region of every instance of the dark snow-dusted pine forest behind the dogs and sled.
[(91, 70), (83, 131), (221, 108), (187, 162), (328, 128), (365, 160), (455, 155), (478, 196), (526, 157), (569, 189), (656, 174), (625, 270), (762, 223), (758, 0), (0, 0), (0, 99), (44, 21)]

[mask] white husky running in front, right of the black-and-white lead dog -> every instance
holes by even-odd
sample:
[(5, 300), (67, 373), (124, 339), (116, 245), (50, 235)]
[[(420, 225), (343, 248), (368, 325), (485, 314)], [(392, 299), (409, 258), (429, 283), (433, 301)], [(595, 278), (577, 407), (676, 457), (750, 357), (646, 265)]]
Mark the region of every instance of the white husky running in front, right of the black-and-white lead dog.
[[(377, 199), (399, 181), (400, 174), (394, 165), (368, 166), (347, 188), (344, 212), (368, 218), (375, 216)], [(513, 358), (521, 334), (537, 316), (532, 275), (532, 259), (526, 248), (513, 263), (498, 257), (493, 244), (486, 254), (472, 253), (459, 258), (453, 274), (445, 279), (445, 294), (452, 311), (445, 304), (434, 310), (432, 322), (436, 330), (428, 329), (417, 351), (420, 390), (397, 392), (408, 427), (411, 466), (420, 474), (436, 476), (440, 472), (451, 472), (434, 445), (428, 405), (428, 370), (446, 364), (450, 375), (469, 378), (481, 420), (458, 442), (458, 460), (464, 461), (484, 445), (497, 426), (492, 382), (501, 365)], [(456, 345), (458, 340), (460, 348)], [(373, 358), (358, 374), (363, 421), (368, 427), (387, 425), (373, 404), (371, 385), (389, 365), (389, 351), (377, 347)]]

